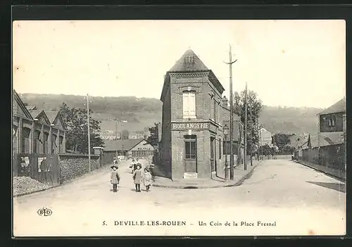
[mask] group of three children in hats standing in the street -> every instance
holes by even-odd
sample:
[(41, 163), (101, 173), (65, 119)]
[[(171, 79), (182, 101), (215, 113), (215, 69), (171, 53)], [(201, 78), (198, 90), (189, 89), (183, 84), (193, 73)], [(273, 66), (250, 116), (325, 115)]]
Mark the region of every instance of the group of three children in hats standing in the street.
[[(111, 166), (111, 169), (112, 169), (111, 184), (113, 184), (113, 192), (117, 192), (118, 184), (120, 184), (120, 175), (118, 173), (118, 166), (114, 164)], [(144, 183), (144, 186), (146, 186), (146, 192), (150, 191), (152, 176), (151, 176), (151, 170), (149, 169), (149, 167), (145, 167), (144, 172), (142, 172), (142, 165), (140, 163), (137, 163), (134, 166), (132, 178), (134, 181), (136, 192), (141, 192), (142, 182)]]

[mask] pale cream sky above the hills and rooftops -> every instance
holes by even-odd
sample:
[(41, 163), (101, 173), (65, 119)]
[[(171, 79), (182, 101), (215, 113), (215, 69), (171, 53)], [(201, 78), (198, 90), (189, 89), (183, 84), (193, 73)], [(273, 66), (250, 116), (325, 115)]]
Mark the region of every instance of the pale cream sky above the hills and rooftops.
[(345, 96), (344, 20), (35, 20), (13, 22), (18, 93), (160, 99), (192, 49), (229, 96), (247, 82), (268, 106), (326, 108)]

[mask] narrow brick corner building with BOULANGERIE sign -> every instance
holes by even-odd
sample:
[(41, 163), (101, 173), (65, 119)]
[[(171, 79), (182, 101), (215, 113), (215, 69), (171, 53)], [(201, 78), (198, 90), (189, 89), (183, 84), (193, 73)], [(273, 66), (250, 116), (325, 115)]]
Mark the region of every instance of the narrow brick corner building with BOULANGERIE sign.
[[(172, 180), (210, 178), (223, 172), (222, 127), (224, 122), (230, 127), (224, 90), (212, 70), (191, 50), (166, 73), (160, 153), (163, 170)], [(234, 141), (240, 146), (241, 129), (239, 117), (234, 115)], [(230, 165), (230, 157), (228, 162)]]

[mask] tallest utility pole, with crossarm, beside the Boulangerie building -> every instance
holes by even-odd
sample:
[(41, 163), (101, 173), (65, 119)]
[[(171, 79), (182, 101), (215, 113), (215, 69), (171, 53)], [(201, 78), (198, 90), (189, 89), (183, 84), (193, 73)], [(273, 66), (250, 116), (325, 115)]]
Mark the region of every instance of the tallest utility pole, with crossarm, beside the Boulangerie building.
[(234, 101), (232, 99), (233, 93), (232, 93), (232, 64), (236, 63), (237, 59), (235, 61), (232, 61), (232, 51), (231, 51), (231, 45), (230, 50), (229, 50), (229, 65), (230, 68), (230, 179), (234, 179), (234, 148), (233, 148), (233, 139), (234, 139)]

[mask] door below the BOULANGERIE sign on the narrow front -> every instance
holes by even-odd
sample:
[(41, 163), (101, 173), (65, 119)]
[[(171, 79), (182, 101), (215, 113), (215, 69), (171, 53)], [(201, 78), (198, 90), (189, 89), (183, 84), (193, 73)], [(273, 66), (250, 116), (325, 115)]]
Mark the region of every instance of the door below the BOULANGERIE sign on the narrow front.
[(184, 137), (184, 172), (197, 172), (196, 135)]

